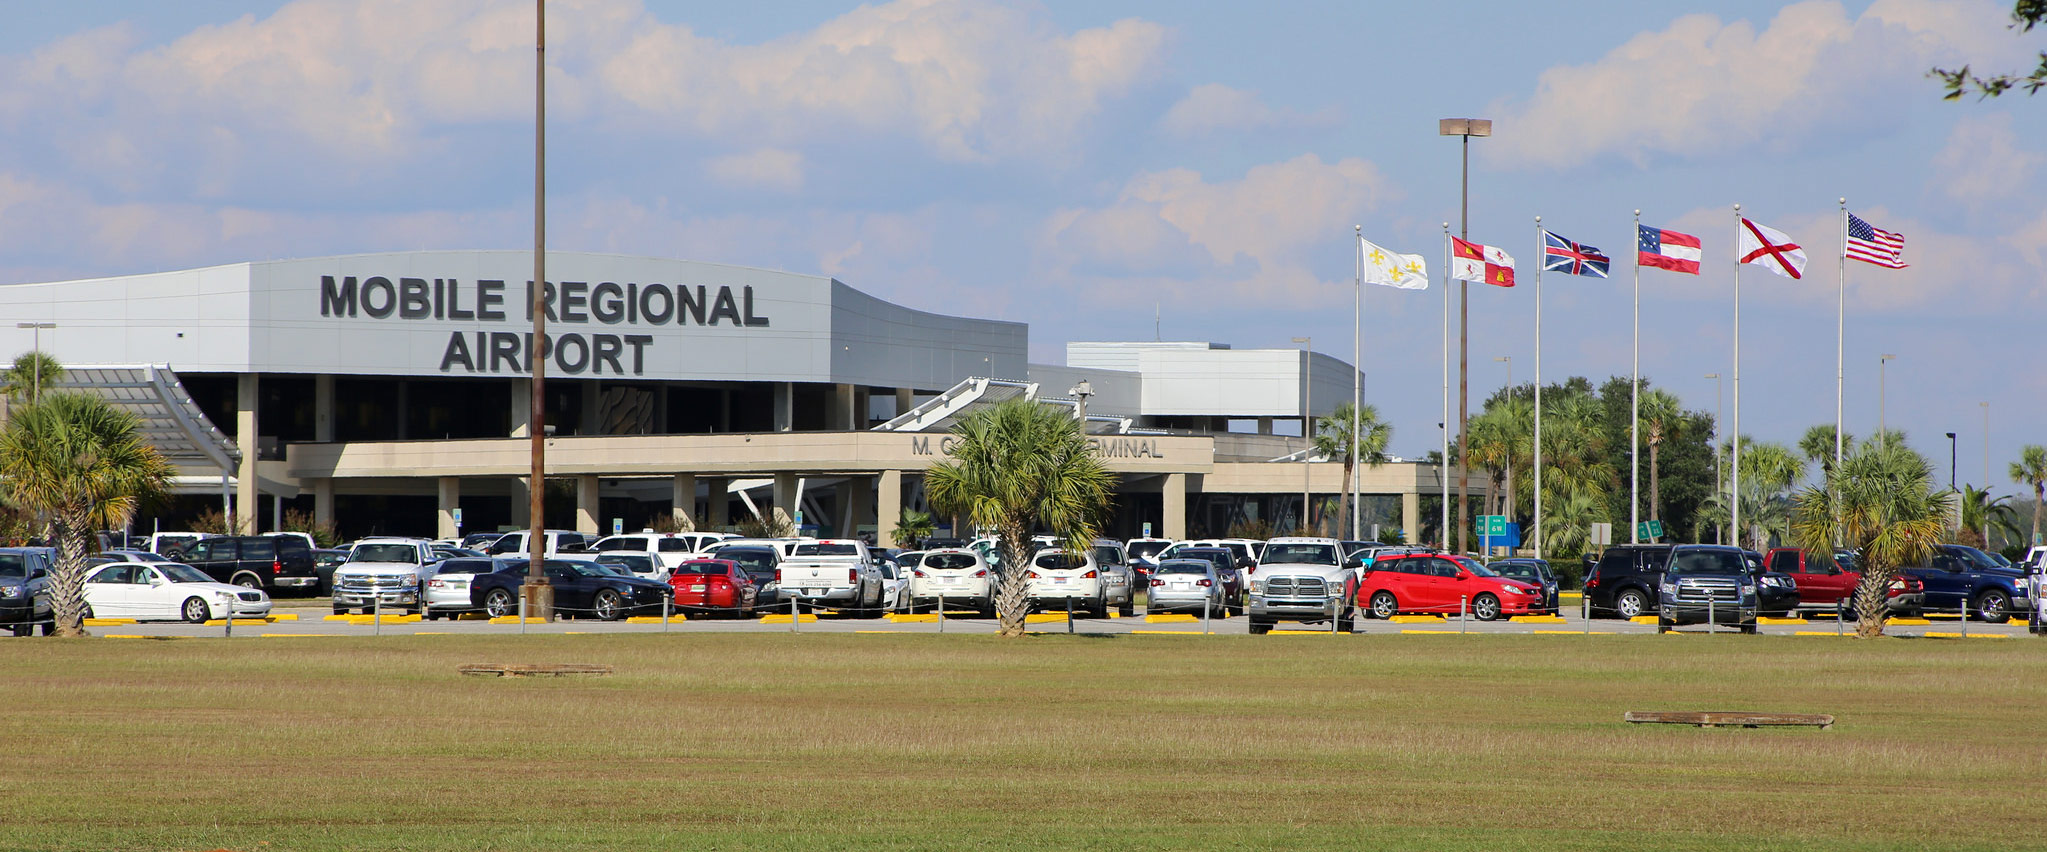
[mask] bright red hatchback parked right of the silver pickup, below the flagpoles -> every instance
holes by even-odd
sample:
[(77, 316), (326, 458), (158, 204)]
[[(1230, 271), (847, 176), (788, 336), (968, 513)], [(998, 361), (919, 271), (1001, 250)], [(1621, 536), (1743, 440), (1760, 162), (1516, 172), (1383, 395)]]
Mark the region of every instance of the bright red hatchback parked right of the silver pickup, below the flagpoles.
[(1478, 621), (1541, 610), (1541, 588), (1492, 573), (1449, 553), (1396, 553), (1371, 561), (1357, 582), (1357, 608), (1371, 619), (1400, 612), (1460, 614)]

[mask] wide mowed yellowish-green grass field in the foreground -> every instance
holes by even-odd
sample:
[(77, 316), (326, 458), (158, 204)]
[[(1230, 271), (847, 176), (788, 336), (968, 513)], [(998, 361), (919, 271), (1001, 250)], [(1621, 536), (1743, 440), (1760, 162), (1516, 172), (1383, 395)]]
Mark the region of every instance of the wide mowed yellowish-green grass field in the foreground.
[(2029, 848), (2043, 723), (2035, 639), (33, 639), (0, 848)]

